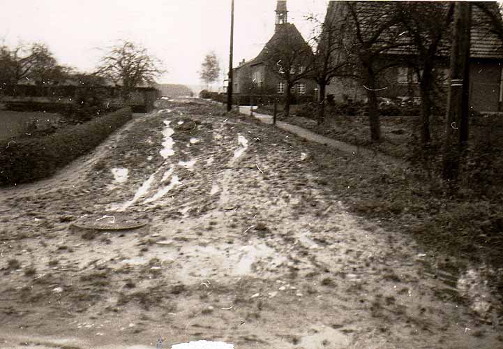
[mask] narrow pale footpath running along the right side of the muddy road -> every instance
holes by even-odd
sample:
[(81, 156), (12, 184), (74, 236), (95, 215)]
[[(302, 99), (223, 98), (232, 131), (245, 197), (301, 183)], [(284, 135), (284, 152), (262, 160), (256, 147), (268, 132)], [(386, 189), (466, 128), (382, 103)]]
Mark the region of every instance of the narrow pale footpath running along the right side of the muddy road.
[[(239, 112), (241, 114), (250, 115), (250, 106), (240, 106)], [(262, 121), (264, 124), (271, 125), (273, 123), (273, 117), (267, 114), (259, 114), (257, 112), (253, 112), (253, 117)], [(290, 133), (294, 133), (301, 138), (309, 140), (311, 142), (316, 142), (319, 144), (324, 144), (326, 146), (332, 147), (334, 149), (338, 149), (340, 151), (344, 151), (345, 153), (352, 154), (354, 156), (368, 156), (379, 159), (382, 163), (393, 163), (402, 168), (407, 167), (407, 163), (401, 161), (398, 158), (393, 158), (392, 156), (388, 156), (386, 154), (382, 154), (379, 151), (371, 150), (365, 147), (359, 147), (350, 143), (340, 142), (339, 140), (333, 140), (332, 138), (325, 137), (323, 135), (319, 135), (317, 133), (306, 130), (306, 128), (302, 128), (300, 126), (288, 124), (285, 121), (276, 120), (276, 126)]]

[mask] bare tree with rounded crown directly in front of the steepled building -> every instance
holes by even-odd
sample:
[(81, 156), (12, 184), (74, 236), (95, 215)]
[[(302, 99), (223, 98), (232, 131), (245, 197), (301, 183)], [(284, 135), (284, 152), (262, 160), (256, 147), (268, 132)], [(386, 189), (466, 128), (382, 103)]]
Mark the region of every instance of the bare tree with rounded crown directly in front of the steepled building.
[(285, 84), (283, 108), (285, 117), (290, 116), (292, 88), (297, 82), (309, 76), (313, 64), (313, 50), (299, 31), (290, 28), (278, 28), (278, 30), (283, 30), (283, 33), (273, 36), (265, 49), (266, 64)]

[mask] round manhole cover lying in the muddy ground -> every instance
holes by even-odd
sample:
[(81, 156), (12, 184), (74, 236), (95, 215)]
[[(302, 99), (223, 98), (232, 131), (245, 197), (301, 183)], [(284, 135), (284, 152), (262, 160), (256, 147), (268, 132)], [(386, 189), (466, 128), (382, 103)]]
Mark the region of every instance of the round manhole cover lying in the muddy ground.
[(74, 227), (93, 230), (130, 230), (149, 223), (147, 218), (137, 218), (127, 214), (89, 214), (72, 223)]

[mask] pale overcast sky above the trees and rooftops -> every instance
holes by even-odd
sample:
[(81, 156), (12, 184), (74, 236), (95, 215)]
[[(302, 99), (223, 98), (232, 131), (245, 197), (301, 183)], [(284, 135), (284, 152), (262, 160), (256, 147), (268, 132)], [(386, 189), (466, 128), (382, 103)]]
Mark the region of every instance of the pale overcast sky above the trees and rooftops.
[[(234, 66), (251, 59), (274, 32), (276, 0), (234, 0)], [(164, 63), (160, 82), (200, 84), (197, 70), (213, 50), (227, 70), (231, 0), (2, 0), (0, 38), (43, 42), (61, 64), (92, 71), (99, 49), (133, 40)], [(288, 0), (289, 22), (304, 38), (308, 13), (323, 17), (326, 0)]]

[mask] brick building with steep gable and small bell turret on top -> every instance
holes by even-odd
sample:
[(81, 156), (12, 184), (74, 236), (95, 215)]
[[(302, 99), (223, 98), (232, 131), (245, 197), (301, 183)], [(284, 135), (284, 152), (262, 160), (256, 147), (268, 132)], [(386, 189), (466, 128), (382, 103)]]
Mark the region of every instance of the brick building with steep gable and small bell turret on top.
[[(295, 25), (288, 22), (287, 1), (278, 1), (276, 6), (276, 29), (271, 39), (266, 43), (257, 57), (249, 61), (241, 61), (234, 68), (234, 94), (285, 94), (285, 82), (271, 68), (270, 55), (278, 45), (285, 45), (289, 41), (292, 45), (306, 46), (306, 40), (296, 29)], [(309, 53), (312, 52), (309, 50)], [(269, 55), (269, 57), (268, 57)], [(300, 63), (292, 66), (292, 73), (302, 72), (306, 64)], [(276, 67), (275, 67), (276, 68)], [(313, 80), (301, 79), (292, 87), (293, 96), (314, 96), (316, 84)]]

